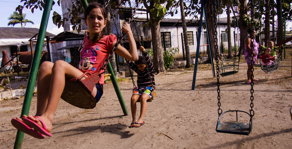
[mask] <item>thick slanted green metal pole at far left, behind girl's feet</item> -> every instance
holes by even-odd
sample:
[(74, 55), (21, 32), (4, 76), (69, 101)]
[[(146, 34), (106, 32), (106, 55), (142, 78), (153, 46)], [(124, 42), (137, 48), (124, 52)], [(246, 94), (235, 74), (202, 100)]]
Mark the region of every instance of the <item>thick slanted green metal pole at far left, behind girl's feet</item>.
[[(36, 75), (37, 71), (39, 68), (39, 60), (41, 58), (41, 50), (44, 45), (44, 39), (46, 35), (46, 29), (48, 25), (48, 20), (50, 16), (50, 11), (52, 8), (53, 0), (46, 0), (45, 8), (44, 8), (44, 13), (41, 18), (41, 25), (39, 28), (39, 34), (37, 37), (36, 41), (36, 50), (34, 51), (34, 57), (32, 59), (32, 65), (30, 68), (29, 72), (29, 77), (28, 77), (28, 83), (27, 83), (27, 88), (25, 91), (25, 98), (23, 101), (23, 106), (22, 106), (22, 111), (21, 115), (28, 115), (29, 114), (29, 108), (32, 100), (32, 94), (34, 91), (34, 85), (36, 82)], [(16, 137), (15, 137), (15, 143), (14, 143), (14, 149), (19, 149), (21, 148), (22, 141), (23, 141), (24, 133), (21, 131), (17, 131)]]

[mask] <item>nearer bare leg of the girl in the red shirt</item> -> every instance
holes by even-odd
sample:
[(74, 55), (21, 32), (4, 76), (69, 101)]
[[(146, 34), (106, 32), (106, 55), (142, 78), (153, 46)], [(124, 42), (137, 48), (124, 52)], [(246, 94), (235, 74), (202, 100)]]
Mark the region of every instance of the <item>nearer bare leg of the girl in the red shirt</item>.
[[(40, 115), (40, 118), (44, 121), (48, 132), (51, 132), (52, 129), (53, 115), (55, 113), (55, 110), (57, 109), (60, 97), (64, 90), (65, 77), (78, 78), (82, 74), (83, 73), (80, 70), (76, 69), (65, 61), (59, 60), (54, 63), (51, 73), (50, 90), (48, 92), (48, 102), (44, 113)], [(43, 101), (39, 99), (38, 102)], [(34, 118), (32, 115), (23, 115), (23, 117), (29, 118), (36, 122), (38, 125), (42, 126), (40, 120), (38, 118)]]

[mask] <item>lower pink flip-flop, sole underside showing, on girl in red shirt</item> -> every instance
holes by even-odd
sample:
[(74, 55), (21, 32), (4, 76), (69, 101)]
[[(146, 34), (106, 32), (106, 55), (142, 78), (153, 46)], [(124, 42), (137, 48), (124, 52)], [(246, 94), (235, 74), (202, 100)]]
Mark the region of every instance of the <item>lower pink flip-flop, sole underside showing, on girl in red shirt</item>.
[(33, 136), (37, 139), (44, 139), (45, 138), (45, 135), (35, 131), (34, 129), (30, 128), (29, 126), (27, 126), (24, 122), (18, 120), (18, 119), (15, 119), (13, 118), (11, 120), (11, 124), (18, 130), (30, 135), (30, 136)]

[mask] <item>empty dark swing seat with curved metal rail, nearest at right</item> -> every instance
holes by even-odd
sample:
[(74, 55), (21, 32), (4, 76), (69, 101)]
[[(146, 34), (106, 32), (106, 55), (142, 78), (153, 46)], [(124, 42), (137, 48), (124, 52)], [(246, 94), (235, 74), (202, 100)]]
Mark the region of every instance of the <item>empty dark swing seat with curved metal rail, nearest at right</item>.
[[(236, 112), (236, 121), (220, 123), (221, 116), (226, 112)], [(216, 132), (228, 133), (228, 134), (241, 134), (241, 135), (250, 134), (251, 129), (252, 129), (252, 117), (249, 113), (247, 113), (245, 111), (238, 111), (238, 110), (230, 110), (230, 111), (226, 111), (226, 112), (223, 112), (219, 116), (218, 122), (217, 122), (217, 127), (216, 127)], [(237, 112), (243, 112), (243, 113), (248, 114), (250, 116), (249, 123), (239, 122)]]

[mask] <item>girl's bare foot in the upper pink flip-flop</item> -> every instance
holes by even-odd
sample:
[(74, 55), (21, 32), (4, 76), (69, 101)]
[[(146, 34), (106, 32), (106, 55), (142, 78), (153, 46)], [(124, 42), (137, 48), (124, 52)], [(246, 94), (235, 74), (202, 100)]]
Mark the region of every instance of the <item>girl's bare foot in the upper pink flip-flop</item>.
[[(26, 119), (21, 119), (21, 120), (24, 121), (25, 124), (27, 124), (29, 127), (34, 128), (35, 130), (36, 130), (35, 127), (37, 127), (36, 125), (39, 125), (39, 126), (42, 127), (42, 128), (45, 127), (45, 128), (46, 128), (45, 130), (46, 130), (47, 132), (51, 132), (51, 131), (52, 131), (52, 120), (49, 120), (49, 119), (48, 119), (47, 117), (45, 117), (45, 116), (39, 116), (39, 117), (36, 117), (36, 116), (32, 116), (32, 115), (28, 115), (28, 116), (23, 115), (22, 118), (26, 118)], [(41, 119), (40, 119), (40, 118), (41, 118)], [(29, 120), (35, 122), (36, 125), (32, 124), (31, 122), (27, 122), (27, 119), (29, 119)], [(43, 123), (42, 123), (41, 121), (43, 121)], [(43, 124), (44, 124), (45, 126), (44, 126)], [(36, 130), (36, 131), (38, 131), (38, 130)]]

